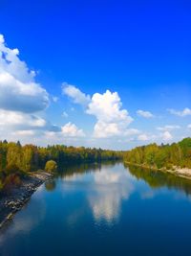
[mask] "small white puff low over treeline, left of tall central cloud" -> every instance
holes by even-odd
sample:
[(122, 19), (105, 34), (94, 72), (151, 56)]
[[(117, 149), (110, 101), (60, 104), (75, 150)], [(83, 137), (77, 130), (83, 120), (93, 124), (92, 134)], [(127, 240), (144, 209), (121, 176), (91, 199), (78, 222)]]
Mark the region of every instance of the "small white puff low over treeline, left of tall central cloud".
[(74, 124), (69, 122), (61, 128), (61, 133), (64, 137), (84, 137), (85, 133), (82, 129), (77, 128)]

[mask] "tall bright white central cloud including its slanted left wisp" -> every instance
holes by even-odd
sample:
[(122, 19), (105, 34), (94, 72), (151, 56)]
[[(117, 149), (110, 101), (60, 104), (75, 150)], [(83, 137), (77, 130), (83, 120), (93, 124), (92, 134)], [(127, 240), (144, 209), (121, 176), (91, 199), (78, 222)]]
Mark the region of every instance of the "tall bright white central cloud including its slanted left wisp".
[(96, 117), (94, 128), (96, 138), (128, 135), (127, 127), (132, 123), (133, 118), (126, 109), (121, 109), (122, 104), (117, 92), (112, 93), (107, 90), (103, 94), (95, 93), (91, 99), (89, 95), (69, 84), (64, 84), (63, 92), (72, 98), (74, 103), (86, 106), (87, 114)]

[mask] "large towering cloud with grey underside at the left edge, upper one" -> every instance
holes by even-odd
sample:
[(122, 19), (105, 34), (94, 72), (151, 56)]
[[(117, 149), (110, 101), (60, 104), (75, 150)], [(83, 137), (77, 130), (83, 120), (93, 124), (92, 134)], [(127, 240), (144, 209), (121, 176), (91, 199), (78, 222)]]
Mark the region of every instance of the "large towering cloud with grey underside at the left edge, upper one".
[(0, 35), (0, 108), (27, 113), (43, 110), (49, 105), (49, 95), (18, 54)]

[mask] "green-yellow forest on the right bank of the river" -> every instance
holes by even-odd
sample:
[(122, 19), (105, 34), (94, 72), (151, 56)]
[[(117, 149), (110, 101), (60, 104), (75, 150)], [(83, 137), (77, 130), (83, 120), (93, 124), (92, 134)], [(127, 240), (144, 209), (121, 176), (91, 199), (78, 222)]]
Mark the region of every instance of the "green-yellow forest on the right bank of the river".
[(191, 138), (158, 146), (156, 143), (126, 151), (124, 161), (149, 168), (191, 168)]

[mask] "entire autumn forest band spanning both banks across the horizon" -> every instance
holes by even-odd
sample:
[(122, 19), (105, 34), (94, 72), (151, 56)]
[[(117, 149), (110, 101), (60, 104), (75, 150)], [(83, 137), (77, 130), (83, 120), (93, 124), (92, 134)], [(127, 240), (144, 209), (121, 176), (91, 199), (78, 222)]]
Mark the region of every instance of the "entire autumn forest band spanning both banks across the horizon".
[(70, 164), (100, 163), (121, 160), (153, 169), (191, 168), (191, 138), (179, 143), (160, 146), (156, 143), (137, 147), (131, 151), (109, 151), (84, 147), (54, 145), (22, 146), (20, 142), (0, 141), (0, 191), (20, 185), (24, 176), (45, 170), (62, 171)]

